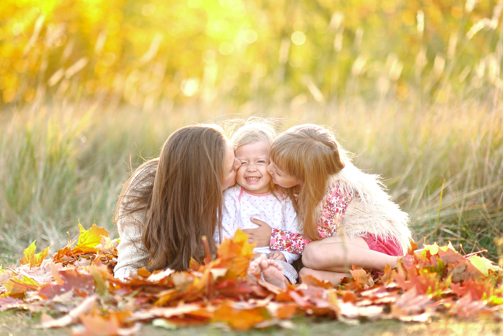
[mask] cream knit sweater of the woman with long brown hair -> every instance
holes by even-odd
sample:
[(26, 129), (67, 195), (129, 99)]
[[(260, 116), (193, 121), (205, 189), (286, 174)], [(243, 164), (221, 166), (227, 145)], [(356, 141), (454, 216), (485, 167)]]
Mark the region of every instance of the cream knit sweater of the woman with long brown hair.
[[(125, 192), (128, 195), (134, 196), (137, 193), (131, 186), (145, 187), (154, 183), (155, 169), (157, 164), (152, 164), (143, 167), (143, 169), (136, 172), (131, 179), (128, 189)], [(137, 184), (138, 180), (144, 179), (141, 183)], [(136, 182), (136, 183), (135, 183)], [(121, 241), (117, 246), (117, 264), (114, 268), (114, 275), (116, 278), (124, 279), (129, 276), (129, 272), (136, 272), (139, 268), (146, 266), (150, 254), (141, 242), (141, 233), (143, 225), (145, 224), (145, 212), (136, 211), (126, 216), (124, 214), (123, 203), (119, 206), (119, 216), (117, 220), (117, 230)], [(148, 217), (148, 213), (147, 213)]]

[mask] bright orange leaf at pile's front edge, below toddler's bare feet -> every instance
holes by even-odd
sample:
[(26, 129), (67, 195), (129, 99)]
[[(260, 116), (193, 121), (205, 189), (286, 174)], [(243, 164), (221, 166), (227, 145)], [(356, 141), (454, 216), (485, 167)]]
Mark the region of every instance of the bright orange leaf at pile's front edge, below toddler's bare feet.
[(213, 322), (226, 322), (237, 330), (247, 330), (256, 323), (264, 321), (268, 316), (265, 307), (237, 310), (229, 302), (221, 304), (213, 312)]

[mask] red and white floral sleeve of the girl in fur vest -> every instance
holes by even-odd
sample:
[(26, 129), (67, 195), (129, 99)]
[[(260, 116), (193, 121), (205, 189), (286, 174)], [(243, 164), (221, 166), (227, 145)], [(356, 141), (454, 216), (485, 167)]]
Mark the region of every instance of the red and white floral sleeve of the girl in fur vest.
[[(332, 184), (326, 190), (324, 203), (320, 204), (321, 218), (318, 221), (318, 232), (321, 238), (337, 235), (337, 228), (343, 220), (344, 212), (348, 208), (351, 195), (341, 190), (339, 185)], [(273, 229), (271, 234), (271, 250), (287, 251), (302, 254), (304, 247), (311, 240), (300, 233), (293, 233), (280, 229)]]

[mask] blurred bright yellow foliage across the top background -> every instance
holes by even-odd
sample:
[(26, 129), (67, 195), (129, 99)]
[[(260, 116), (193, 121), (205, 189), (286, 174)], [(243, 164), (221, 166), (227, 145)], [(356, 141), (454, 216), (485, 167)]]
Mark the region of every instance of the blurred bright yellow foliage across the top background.
[[(159, 99), (246, 101), (310, 92), (324, 101), (356, 77), (361, 92), (380, 94), (398, 81), (398, 97), (406, 99), (409, 85), (430, 93), (443, 75), (456, 87), (467, 79), (458, 81), (459, 74), (487, 62), (501, 6), (492, 0), (3, 0), (1, 97), (15, 103), (46, 94), (108, 95), (147, 106)], [(482, 28), (469, 38), (477, 22)], [(445, 62), (449, 41), (454, 53)]]

